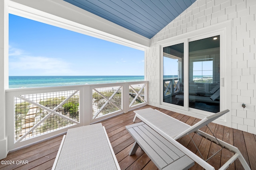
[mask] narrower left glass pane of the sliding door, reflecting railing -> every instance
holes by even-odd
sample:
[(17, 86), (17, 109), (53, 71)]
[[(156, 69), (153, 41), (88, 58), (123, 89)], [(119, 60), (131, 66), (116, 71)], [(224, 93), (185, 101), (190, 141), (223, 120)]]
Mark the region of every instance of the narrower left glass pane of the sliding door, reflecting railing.
[(163, 48), (163, 102), (184, 106), (184, 44)]

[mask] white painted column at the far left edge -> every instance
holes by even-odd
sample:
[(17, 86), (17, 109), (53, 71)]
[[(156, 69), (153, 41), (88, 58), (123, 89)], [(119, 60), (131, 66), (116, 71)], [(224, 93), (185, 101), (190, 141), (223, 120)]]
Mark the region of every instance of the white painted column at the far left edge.
[(8, 88), (8, 5), (0, 1), (0, 159), (8, 153), (6, 137), (5, 89)]

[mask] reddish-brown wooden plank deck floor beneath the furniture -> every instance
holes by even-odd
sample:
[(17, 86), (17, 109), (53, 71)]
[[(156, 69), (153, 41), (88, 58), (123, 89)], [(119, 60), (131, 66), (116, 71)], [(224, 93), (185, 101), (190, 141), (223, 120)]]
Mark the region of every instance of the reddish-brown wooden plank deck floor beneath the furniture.
[[(139, 109), (143, 109), (146, 107), (152, 106), (144, 106), (140, 107)], [(193, 125), (194, 123), (200, 121), (200, 119), (179, 114), (173, 111), (160, 109), (158, 107), (152, 108), (159, 109), (163, 113), (166, 113), (189, 125)], [(133, 118), (134, 112), (129, 111), (128, 113), (124, 113), (122, 115), (118, 115), (111, 119), (102, 121), (102, 125), (106, 128), (111, 145), (116, 154), (116, 158), (120, 164), (120, 168), (122, 170), (157, 170), (157, 167), (154, 165), (154, 163), (140, 148), (137, 150), (135, 155), (128, 155), (132, 144), (134, 143), (134, 139), (126, 131), (125, 126), (132, 124)], [(136, 118), (136, 123), (138, 122), (140, 122), (140, 119)], [(250, 165), (251, 169), (256, 170), (256, 135), (232, 129), (229, 127), (224, 127), (215, 123), (210, 123), (209, 127), (214, 132), (217, 138), (238, 147), (238, 149), (240, 150), (240, 152), (242, 152), (244, 158)], [(203, 127), (201, 130), (209, 133), (209, 130), (206, 129), (206, 127)], [(192, 138), (194, 139), (199, 150), (201, 150), (204, 158), (211, 156), (214, 151), (219, 149), (218, 145), (211, 143), (206, 139), (202, 139), (202, 137), (198, 136), (197, 134), (193, 134)], [(9, 153), (7, 158), (4, 158), (3, 160), (11, 160), (14, 162), (16, 162), (17, 160), (27, 160), (28, 164), (24, 164), (26, 162), (21, 162), (20, 164), (14, 163), (10, 165), (0, 164), (0, 170), (50, 170), (58, 152), (61, 140), (62, 136), (33, 145), (32, 147)], [(196, 148), (194, 147), (192, 141), (190, 141), (190, 138), (188, 136), (181, 138), (179, 142), (188, 149), (192, 150), (192, 152), (198, 154), (198, 152), (196, 152)], [(230, 158), (230, 156), (232, 155), (233, 153), (227, 150), (222, 150), (213, 158), (208, 160), (208, 163), (214, 166), (215, 169), (218, 169), (222, 164), (226, 162), (227, 158)], [(195, 164), (192, 168), (190, 168), (190, 170), (201, 169), (203, 168), (198, 166), (198, 164)], [(239, 160), (236, 160), (228, 168), (228, 170), (240, 169), (243, 168)]]

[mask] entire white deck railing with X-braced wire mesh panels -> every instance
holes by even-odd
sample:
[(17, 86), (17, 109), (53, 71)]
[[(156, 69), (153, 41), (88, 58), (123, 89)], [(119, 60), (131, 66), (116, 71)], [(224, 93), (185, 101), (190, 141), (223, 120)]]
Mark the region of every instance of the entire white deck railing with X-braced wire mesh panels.
[(8, 149), (15, 149), (147, 104), (147, 83), (6, 90)]

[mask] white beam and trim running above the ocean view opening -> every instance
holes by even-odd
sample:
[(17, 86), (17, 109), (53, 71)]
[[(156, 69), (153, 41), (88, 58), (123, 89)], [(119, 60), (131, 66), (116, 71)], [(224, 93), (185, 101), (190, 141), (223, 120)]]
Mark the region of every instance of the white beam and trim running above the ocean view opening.
[[(9, 13), (139, 50), (150, 39), (63, 0), (9, 0)], [(80, 20), (79, 20), (80, 18)]]

